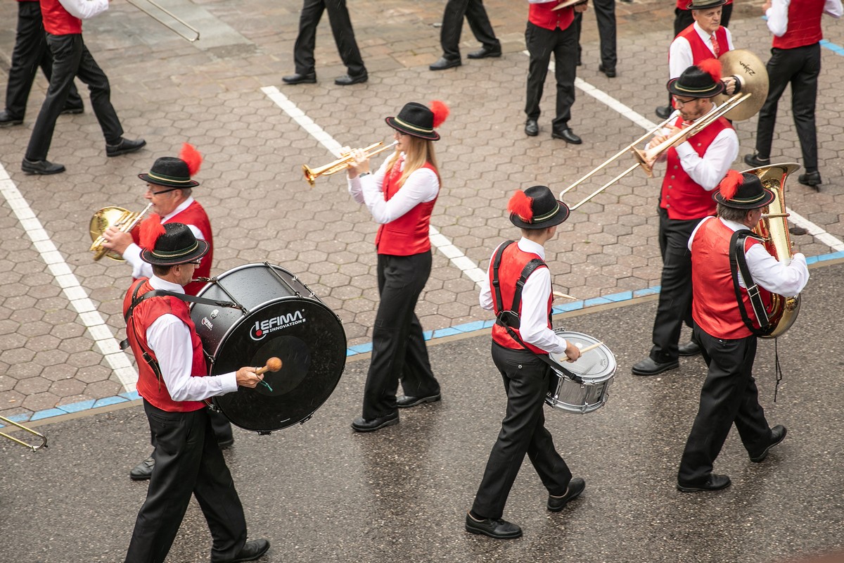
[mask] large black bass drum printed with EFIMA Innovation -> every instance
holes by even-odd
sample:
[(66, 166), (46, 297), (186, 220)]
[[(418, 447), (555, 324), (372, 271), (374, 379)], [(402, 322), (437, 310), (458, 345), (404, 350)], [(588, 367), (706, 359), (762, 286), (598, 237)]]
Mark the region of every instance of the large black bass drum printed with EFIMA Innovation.
[(191, 308), (209, 375), (261, 367), (273, 356), (282, 361), (280, 371), (264, 374), (269, 387), (238, 387), (214, 397), (217, 409), (233, 424), (259, 433), (310, 419), (337, 387), (346, 364), (339, 317), (295, 275), (269, 263), (230, 269), (198, 296), (240, 306)]

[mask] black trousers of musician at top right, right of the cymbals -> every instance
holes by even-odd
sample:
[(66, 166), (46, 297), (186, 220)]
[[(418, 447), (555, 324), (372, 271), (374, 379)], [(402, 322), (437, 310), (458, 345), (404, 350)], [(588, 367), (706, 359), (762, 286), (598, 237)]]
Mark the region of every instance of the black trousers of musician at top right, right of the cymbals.
[(791, 84), (792, 113), (803, 152), (803, 167), (807, 172), (817, 171), (818, 136), (814, 126), (814, 106), (818, 99), (820, 43), (794, 49), (771, 49), (766, 67), (771, 87), (756, 125), (756, 152), (762, 158), (771, 156), (776, 107), (786, 86)]

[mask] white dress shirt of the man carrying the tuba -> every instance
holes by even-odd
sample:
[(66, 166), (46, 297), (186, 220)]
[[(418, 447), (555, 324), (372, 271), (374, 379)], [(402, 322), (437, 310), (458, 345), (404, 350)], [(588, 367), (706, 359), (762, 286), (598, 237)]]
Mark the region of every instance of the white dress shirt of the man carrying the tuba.
[[(715, 217), (705, 217), (692, 231), (689, 237), (689, 250), (691, 250), (691, 243), (695, 240), (697, 230), (705, 221), (716, 219)], [(725, 221), (717, 218), (722, 224), (727, 225), (733, 231), (739, 229), (747, 229), (747, 225), (736, 223), (735, 221)], [(772, 257), (765, 246), (753, 245), (750, 250), (744, 253), (747, 257), (747, 268), (750, 272), (750, 277), (756, 284), (759, 284), (771, 293), (777, 295), (785, 295), (791, 297), (798, 295), (806, 283), (809, 281), (809, 268), (806, 267), (806, 257), (800, 252), (795, 254), (790, 263), (779, 262), (775, 257)], [(738, 273), (738, 284), (744, 289), (747, 285), (744, 284), (744, 279), (741, 277), (741, 272)]]

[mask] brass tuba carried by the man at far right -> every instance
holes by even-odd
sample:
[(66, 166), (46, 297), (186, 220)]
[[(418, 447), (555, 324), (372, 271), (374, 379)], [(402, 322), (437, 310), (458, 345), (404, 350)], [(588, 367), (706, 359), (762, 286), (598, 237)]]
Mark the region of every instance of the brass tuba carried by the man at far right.
[[(792, 241), (788, 235), (788, 212), (785, 202), (786, 178), (793, 171), (798, 170), (800, 165), (793, 163), (761, 166), (745, 171), (755, 174), (762, 182), (762, 186), (774, 192), (774, 201), (768, 206), (767, 213), (762, 214), (759, 225), (753, 229), (755, 235), (764, 239), (766, 251), (782, 263), (790, 263), (792, 252)], [(760, 288), (762, 300), (766, 304), (768, 322), (771, 326), (771, 333), (761, 338), (776, 338), (782, 336), (794, 321), (797, 320), (800, 312), (800, 295), (785, 296), (770, 293)]]

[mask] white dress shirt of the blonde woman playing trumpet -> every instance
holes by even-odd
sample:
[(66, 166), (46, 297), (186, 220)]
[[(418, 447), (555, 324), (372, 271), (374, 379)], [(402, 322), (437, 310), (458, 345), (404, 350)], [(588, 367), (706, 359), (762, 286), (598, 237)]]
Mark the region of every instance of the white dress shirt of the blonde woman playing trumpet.
[[(436, 177), (436, 172), (428, 168), (419, 168), (408, 176), (390, 201), (385, 201), (384, 177), (387, 175), (389, 160), (381, 163), (381, 167), (373, 174), (348, 179), (349, 193), (352, 194), (354, 201), (365, 203), (372, 214), (372, 219), (380, 225), (395, 221), (419, 203), (430, 202), (440, 192), (440, 180)], [(404, 163), (401, 165), (401, 170), (404, 171)]]

